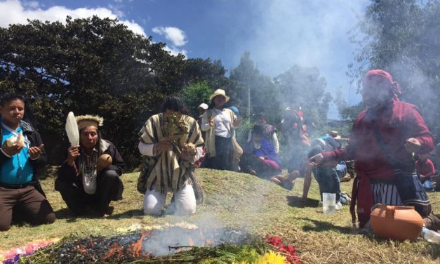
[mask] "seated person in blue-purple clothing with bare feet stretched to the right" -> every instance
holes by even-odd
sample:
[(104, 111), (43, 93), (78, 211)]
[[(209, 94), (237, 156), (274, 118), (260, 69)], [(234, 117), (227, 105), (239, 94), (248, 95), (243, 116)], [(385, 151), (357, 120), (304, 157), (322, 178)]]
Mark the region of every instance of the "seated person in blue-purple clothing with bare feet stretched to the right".
[(264, 126), (255, 125), (252, 128), (252, 140), (244, 147), (244, 154), (240, 161), (242, 171), (292, 190), (293, 178), (281, 175), (281, 159), (274, 147), (265, 140), (263, 133)]

